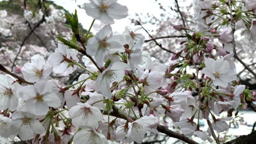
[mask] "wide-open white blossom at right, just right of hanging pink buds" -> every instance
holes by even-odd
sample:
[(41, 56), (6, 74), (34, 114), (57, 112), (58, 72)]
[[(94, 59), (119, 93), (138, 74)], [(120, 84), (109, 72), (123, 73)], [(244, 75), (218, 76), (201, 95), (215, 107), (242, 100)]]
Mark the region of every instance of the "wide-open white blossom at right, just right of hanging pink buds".
[(224, 59), (215, 61), (212, 58), (207, 58), (202, 73), (210, 77), (215, 86), (226, 87), (229, 82), (236, 80), (235, 71), (230, 69), (229, 62)]

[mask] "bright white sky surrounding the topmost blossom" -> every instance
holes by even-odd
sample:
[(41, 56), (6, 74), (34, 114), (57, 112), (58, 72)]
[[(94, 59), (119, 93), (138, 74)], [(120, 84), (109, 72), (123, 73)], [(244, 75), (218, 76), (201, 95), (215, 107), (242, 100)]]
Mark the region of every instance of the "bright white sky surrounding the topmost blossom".
[[(85, 29), (88, 29), (93, 20), (92, 17), (88, 16), (85, 13), (84, 9), (78, 8), (78, 5), (83, 5), (85, 2), (89, 3), (88, 0), (53, 0), (56, 4), (61, 5), (63, 8), (67, 9), (70, 13), (74, 13), (74, 10), (77, 9), (78, 20)], [(165, 1), (170, 3), (170, 1)], [(128, 14), (125, 19), (115, 20), (115, 23), (112, 25), (113, 32), (123, 32), (125, 26), (131, 25), (129, 17), (135, 17), (136, 13), (143, 13), (149, 15), (160, 15), (162, 12), (159, 9), (159, 5), (154, 0), (119, 0), (118, 3), (126, 5), (128, 8)], [(164, 3), (164, 2), (161, 2)], [(99, 21), (98, 21), (99, 22)], [(95, 33), (95, 29), (92, 29), (92, 32)]]

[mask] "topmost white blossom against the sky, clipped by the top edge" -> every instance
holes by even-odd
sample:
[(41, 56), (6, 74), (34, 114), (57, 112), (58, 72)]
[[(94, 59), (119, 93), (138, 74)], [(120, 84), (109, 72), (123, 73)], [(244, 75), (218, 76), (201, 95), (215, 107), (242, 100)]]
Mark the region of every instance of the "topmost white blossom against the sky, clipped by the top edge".
[(90, 3), (84, 3), (84, 9), (89, 16), (109, 24), (128, 15), (127, 7), (117, 3), (117, 0), (90, 0)]

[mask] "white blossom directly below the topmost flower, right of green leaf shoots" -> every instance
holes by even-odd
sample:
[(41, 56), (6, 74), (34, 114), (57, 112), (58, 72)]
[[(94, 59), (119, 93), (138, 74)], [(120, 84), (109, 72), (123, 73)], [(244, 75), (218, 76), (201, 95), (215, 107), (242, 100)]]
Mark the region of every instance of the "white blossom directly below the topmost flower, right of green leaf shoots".
[(90, 56), (95, 56), (97, 64), (101, 67), (105, 56), (116, 52), (124, 52), (124, 44), (120, 43), (120, 39), (124, 39), (123, 35), (111, 35), (112, 28), (110, 25), (104, 26), (96, 33), (94, 38), (88, 40), (86, 52)]

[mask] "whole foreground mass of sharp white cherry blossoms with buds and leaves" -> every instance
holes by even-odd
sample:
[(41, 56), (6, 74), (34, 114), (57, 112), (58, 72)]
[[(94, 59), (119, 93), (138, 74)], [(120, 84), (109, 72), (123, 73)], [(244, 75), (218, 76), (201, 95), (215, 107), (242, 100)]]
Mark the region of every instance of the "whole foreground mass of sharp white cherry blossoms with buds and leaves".
[[(255, 2), (250, 2), (247, 7), (255, 9)], [(112, 31), (114, 21), (128, 15), (126, 6), (117, 0), (91, 0), (84, 9), (94, 18), (91, 26), (96, 20), (105, 24), (95, 35), (89, 29), (80, 36), (76, 12), (66, 15), (72, 40), (58, 37), (60, 43), (47, 59), (32, 56), (18, 69), (24, 81), (0, 75), (1, 136), (33, 143), (141, 143), (147, 133), (159, 133), (159, 125), (165, 125), (212, 142), (214, 131), (229, 128), (232, 111), (246, 109), (248, 101), (256, 100), (255, 92), (236, 81), (234, 53), (221, 53), (211, 39), (231, 43), (231, 30), (195, 32), (173, 26), (192, 34), (186, 33), (183, 49), (166, 65), (143, 51), (141, 33), (129, 27), (123, 33)], [(202, 14), (203, 10), (201, 19)], [(29, 11), (25, 17), (32, 23), (42, 19), (32, 18)], [(83, 63), (78, 53), (84, 55)], [(194, 71), (188, 73), (189, 67)], [(50, 77), (68, 76), (77, 69), (85, 72), (69, 86)], [(220, 117), (224, 111), (229, 115)], [(210, 118), (209, 128), (202, 130), (199, 120)]]

